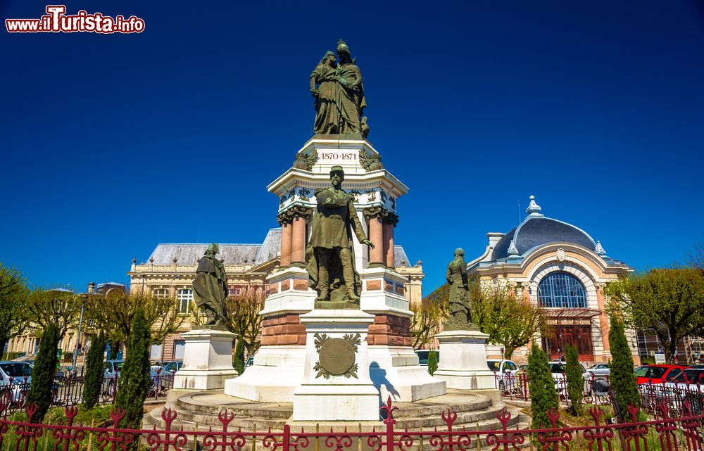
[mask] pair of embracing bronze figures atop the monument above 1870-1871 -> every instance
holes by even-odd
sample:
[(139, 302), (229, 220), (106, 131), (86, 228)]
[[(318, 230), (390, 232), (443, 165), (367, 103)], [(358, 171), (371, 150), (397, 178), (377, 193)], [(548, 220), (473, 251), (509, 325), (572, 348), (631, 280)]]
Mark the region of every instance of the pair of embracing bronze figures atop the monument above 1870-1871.
[(337, 57), (327, 51), (310, 74), (310, 92), (315, 97), (313, 133), (367, 137), (362, 72), (342, 39), (337, 43)]

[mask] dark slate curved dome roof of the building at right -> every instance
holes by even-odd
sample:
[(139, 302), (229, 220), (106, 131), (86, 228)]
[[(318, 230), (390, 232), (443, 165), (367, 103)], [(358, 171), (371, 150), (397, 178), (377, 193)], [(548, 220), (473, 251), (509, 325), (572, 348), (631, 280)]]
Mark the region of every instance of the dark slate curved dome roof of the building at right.
[(508, 257), (508, 246), (513, 240), (518, 253), (524, 255), (527, 250), (548, 243), (574, 243), (589, 250), (594, 250), (596, 242), (585, 231), (572, 224), (553, 220), (549, 217), (527, 217), (518, 227), (505, 234), (496, 243), (491, 260)]

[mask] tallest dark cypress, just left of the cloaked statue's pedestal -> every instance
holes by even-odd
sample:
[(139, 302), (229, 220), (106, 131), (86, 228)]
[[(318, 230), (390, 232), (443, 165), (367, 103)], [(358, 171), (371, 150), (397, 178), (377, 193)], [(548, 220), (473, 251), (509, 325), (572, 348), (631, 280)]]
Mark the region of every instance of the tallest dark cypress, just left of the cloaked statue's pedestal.
[(118, 393), (115, 405), (125, 409), (125, 417), (120, 420), (120, 427), (139, 429), (142, 427), (144, 400), (149, 395), (151, 377), (149, 373), (149, 348), (151, 334), (144, 310), (138, 307), (130, 326), (127, 341), (127, 358), (122, 364)]

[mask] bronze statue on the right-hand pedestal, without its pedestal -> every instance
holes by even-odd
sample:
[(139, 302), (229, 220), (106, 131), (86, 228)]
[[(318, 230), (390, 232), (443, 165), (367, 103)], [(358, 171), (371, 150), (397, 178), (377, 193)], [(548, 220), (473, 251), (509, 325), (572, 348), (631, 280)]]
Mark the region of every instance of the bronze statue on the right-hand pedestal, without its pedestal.
[(472, 324), (472, 301), (467, 281), (465, 251), (455, 250), (455, 259), (447, 265), (447, 283), (450, 284), (450, 317), (445, 322), (446, 331), (470, 329)]

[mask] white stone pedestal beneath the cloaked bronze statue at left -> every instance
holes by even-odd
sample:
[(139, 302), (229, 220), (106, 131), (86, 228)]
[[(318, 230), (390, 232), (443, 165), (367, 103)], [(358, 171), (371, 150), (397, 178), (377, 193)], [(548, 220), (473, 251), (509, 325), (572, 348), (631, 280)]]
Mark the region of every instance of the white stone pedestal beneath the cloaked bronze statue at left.
[(183, 366), (174, 375), (174, 388), (213, 390), (237, 377), (232, 367), (232, 341), (236, 334), (223, 329), (193, 329), (181, 336), (186, 345)]

